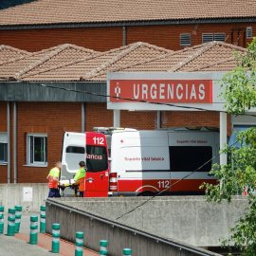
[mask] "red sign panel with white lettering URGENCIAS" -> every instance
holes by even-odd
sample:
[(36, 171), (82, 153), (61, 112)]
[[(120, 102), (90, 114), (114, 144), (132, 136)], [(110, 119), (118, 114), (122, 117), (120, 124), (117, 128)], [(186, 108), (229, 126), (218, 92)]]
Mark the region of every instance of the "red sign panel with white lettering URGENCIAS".
[[(211, 103), (210, 80), (112, 80), (109, 101)], [(130, 101), (133, 102), (133, 101)]]

